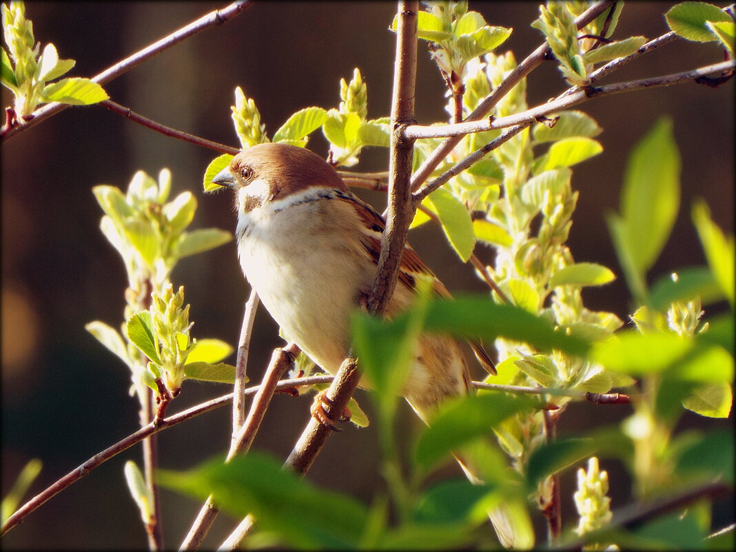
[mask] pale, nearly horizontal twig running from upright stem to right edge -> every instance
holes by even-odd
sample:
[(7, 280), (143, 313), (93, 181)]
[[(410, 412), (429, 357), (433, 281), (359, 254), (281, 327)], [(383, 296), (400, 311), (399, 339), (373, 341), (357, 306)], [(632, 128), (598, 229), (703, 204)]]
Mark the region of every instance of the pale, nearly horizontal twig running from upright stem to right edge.
[(576, 92), (567, 94), (566, 96), (553, 99), (551, 102), (532, 107), (520, 113), (514, 113), (506, 117), (492, 118), (486, 121), (469, 121), (458, 124), (445, 124), (436, 127), (423, 127), (414, 125), (406, 127), (406, 135), (408, 138), (441, 138), (443, 136), (459, 136), (466, 135), (471, 132), (484, 132), (486, 130), (502, 129), (513, 127), (517, 124), (532, 123), (542, 116), (550, 113), (565, 110), (573, 105), (578, 105), (592, 98), (602, 96), (611, 96), (612, 94), (622, 92), (632, 92), (642, 90), (643, 88), (659, 88), (660, 86), (671, 86), (681, 84), (682, 82), (696, 81), (701, 77), (707, 77), (712, 74), (721, 74), (734, 71), (736, 64), (733, 61), (724, 61), (715, 63), (682, 73), (673, 73), (662, 75), (661, 77), (648, 77), (646, 79), (631, 80), (628, 82), (617, 82), (612, 85), (597, 86), (586, 89), (580, 89)]

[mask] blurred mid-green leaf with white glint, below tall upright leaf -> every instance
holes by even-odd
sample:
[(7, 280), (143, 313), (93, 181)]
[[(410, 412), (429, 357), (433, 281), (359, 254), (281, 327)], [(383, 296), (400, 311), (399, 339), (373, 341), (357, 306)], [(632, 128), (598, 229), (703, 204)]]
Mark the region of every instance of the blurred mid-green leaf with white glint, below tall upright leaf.
[(651, 288), (651, 305), (660, 312), (665, 312), (673, 302), (687, 302), (700, 297), (702, 304), (707, 305), (723, 297), (721, 288), (715, 278), (704, 266), (693, 266), (663, 276)]

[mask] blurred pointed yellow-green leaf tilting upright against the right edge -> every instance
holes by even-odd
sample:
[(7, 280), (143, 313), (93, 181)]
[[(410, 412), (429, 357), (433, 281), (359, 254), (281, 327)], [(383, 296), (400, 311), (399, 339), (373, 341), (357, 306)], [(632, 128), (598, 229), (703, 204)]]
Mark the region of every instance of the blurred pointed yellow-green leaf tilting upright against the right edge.
[(723, 235), (723, 230), (710, 219), (710, 210), (707, 204), (698, 199), (693, 204), (693, 224), (698, 230), (701, 244), (705, 252), (705, 258), (708, 260), (708, 266), (721, 286), (721, 291), (726, 294), (726, 298), (734, 306), (735, 295), (735, 259), (736, 247), (734, 245), (733, 236)]

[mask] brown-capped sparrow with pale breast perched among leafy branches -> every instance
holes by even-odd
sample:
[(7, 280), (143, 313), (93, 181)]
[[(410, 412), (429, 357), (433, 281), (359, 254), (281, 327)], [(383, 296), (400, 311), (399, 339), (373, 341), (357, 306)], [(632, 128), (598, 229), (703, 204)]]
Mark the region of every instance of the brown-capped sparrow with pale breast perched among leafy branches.
[[(350, 354), (350, 314), (365, 300), (378, 269), (383, 217), (319, 155), (289, 144), (245, 149), (212, 182), (236, 193), (238, 258), (248, 282), (289, 340), (336, 375)], [(387, 316), (411, 305), (420, 277), (431, 279), (437, 296), (450, 297), (406, 244)], [(495, 375), (481, 344), (468, 341), (481, 365)], [(364, 380), (360, 385), (370, 388)], [(456, 339), (420, 336), (402, 391), (419, 417), (429, 424), (443, 400), (473, 392)], [(330, 425), (314, 409), (313, 415)], [(456, 459), (470, 481), (480, 482), (466, 461)], [(500, 542), (513, 546), (509, 514), (499, 507), (489, 516)]]

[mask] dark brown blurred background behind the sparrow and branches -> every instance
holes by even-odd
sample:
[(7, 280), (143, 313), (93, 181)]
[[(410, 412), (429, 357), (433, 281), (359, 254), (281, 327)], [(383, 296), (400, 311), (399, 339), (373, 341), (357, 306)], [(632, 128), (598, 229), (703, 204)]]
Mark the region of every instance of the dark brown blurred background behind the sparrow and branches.
[[(668, 29), (667, 2), (626, 4), (616, 37), (654, 38)], [(148, 46), (201, 15), (216, 2), (26, 2), (35, 38), (52, 42), (60, 57), (77, 60), (71, 76), (92, 77), (123, 57)], [(500, 51), (522, 60), (542, 40), (529, 24), (535, 2), (471, 1), (490, 24), (514, 28)], [(233, 90), (241, 85), (255, 99), (269, 134), (302, 107), (339, 103), (339, 79), (358, 67), (368, 85), (369, 117), (389, 114), (394, 35), (387, 30), (393, 2), (259, 1), (247, 13), (185, 40), (134, 68), (105, 87), (113, 100), (180, 130), (224, 144), (238, 144), (230, 120)], [(417, 118), (444, 120), (444, 84), (420, 41)], [(717, 63), (717, 46), (677, 42), (616, 71), (606, 82), (620, 82)], [(528, 78), (528, 102), (536, 105), (565, 88), (553, 63)], [(574, 168), (580, 199), (569, 245), (577, 261), (602, 263), (620, 274), (604, 213), (618, 208), (626, 155), (633, 144), (667, 113), (682, 155), (682, 207), (653, 275), (704, 263), (690, 222), (690, 205), (706, 199), (713, 219), (729, 233), (734, 219), (733, 82), (721, 88), (687, 84), (595, 99), (580, 109), (604, 128), (598, 140), (604, 155)], [(10, 105), (3, 89), (2, 104)], [(319, 132), (309, 147), (320, 155), (327, 142)], [(202, 175), (215, 153), (166, 138), (117, 116), (104, 107), (71, 107), (2, 144), (2, 492), (32, 458), (43, 471), (32, 487), (40, 492), (94, 453), (135, 431), (138, 406), (127, 393), (130, 375), (117, 358), (89, 335), (84, 325), (99, 319), (117, 327), (124, 308), (124, 268), (99, 231), (101, 210), (93, 185), (123, 190), (139, 169), (156, 176), (173, 173), (174, 194), (191, 190), (199, 200), (192, 227), (233, 230), (230, 194), (202, 194)], [(386, 168), (384, 149), (364, 150), (356, 170)], [(384, 198), (358, 191), (374, 205)], [(442, 233), (423, 227), (410, 235), (452, 290), (484, 291), (463, 266)], [(478, 255), (492, 261), (492, 252)], [(194, 336), (235, 343), (248, 286), (233, 243), (183, 260), (172, 277), (185, 285)], [(589, 308), (629, 312), (629, 295), (619, 277), (612, 285), (588, 289)], [(259, 311), (249, 365), (252, 382), (261, 378), (272, 347), (280, 344), (268, 314)], [(231, 359), (232, 360), (232, 359)], [(227, 392), (225, 386), (187, 383), (171, 412)], [(365, 392), (358, 400), (370, 410)], [(275, 398), (255, 447), (284, 457), (308, 419), (311, 398)], [(400, 431), (420, 422), (402, 409)], [(629, 414), (626, 406), (574, 405), (562, 417), (562, 434), (582, 431)], [(730, 420), (697, 419), (683, 425), (730, 427)], [(160, 464), (183, 470), (217, 453), (230, 441), (230, 412), (222, 408), (160, 434)], [(406, 439), (411, 442), (411, 439)], [(318, 484), (371, 500), (378, 475), (374, 428), (347, 427), (333, 436), (309, 477)], [(53, 498), (3, 539), (4, 548), (144, 548), (146, 537), (127, 489), (122, 467), (140, 460), (140, 447), (112, 461)], [(629, 483), (615, 462), (611, 470), (613, 506), (622, 506)], [(454, 467), (447, 471), (454, 472)], [(566, 495), (571, 495), (572, 478)], [(566, 506), (570, 499), (566, 498)], [(199, 510), (194, 500), (163, 492), (166, 545), (178, 546)], [(205, 547), (222, 542), (232, 526), (221, 516)], [(567, 523), (573, 523), (567, 517)]]

